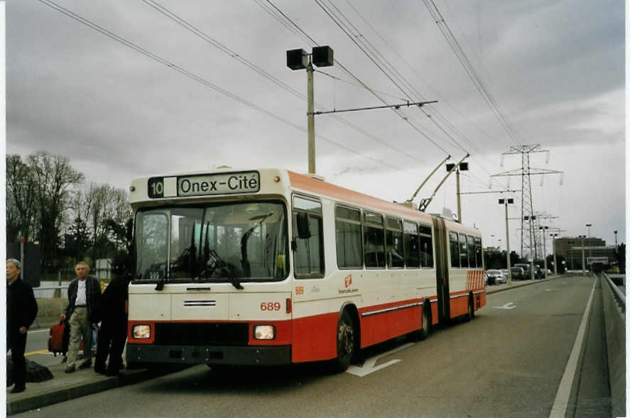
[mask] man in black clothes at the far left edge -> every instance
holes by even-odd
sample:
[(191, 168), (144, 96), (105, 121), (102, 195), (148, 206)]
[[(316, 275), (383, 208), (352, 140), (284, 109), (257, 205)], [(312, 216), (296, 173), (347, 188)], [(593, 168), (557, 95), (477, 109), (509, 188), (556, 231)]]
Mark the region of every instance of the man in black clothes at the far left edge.
[(21, 280), (21, 263), (15, 258), (6, 260), (6, 350), (11, 349), (13, 358), (13, 382), (11, 393), (26, 389), (26, 333), (37, 317), (37, 301), (33, 288)]

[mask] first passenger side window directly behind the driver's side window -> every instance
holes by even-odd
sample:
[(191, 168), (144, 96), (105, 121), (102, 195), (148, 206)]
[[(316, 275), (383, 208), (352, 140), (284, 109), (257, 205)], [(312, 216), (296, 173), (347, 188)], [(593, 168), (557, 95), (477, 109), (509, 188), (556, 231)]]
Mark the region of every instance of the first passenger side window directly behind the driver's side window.
[(338, 206), (335, 208), (337, 235), (337, 267), (363, 268), (361, 211)]

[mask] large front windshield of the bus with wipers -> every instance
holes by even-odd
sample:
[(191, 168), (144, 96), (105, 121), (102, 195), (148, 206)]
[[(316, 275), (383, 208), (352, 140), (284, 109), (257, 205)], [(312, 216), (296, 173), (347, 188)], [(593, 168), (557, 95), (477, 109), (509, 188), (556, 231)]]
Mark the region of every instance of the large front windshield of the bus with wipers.
[(287, 253), (281, 202), (166, 206), (136, 214), (137, 282), (283, 280)]

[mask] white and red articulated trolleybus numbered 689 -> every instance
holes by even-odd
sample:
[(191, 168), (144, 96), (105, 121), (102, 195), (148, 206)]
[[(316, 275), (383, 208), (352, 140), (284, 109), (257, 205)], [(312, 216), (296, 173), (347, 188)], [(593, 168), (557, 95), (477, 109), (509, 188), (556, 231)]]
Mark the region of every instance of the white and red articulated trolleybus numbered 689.
[(131, 184), (127, 362), (281, 365), (474, 317), (479, 231), (287, 170)]

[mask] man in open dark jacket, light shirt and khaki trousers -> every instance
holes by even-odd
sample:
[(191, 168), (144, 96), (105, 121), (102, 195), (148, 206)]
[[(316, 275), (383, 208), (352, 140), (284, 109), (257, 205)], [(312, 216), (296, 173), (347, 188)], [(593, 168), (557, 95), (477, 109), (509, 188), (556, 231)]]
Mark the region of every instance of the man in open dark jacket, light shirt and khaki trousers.
[(92, 365), (92, 324), (96, 324), (93, 314), (101, 302), (101, 286), (99, 281), (89, 276), (89, 265), (85, 261), (75, 266), (77, 278), (67, 287), (68, 305), (61, 320), (70, 318), (70, 346), (67, 351), (65, 373), (75, 371), (77, 353), (83, 340), (83, 363), (79, 368), (89, 368)]

